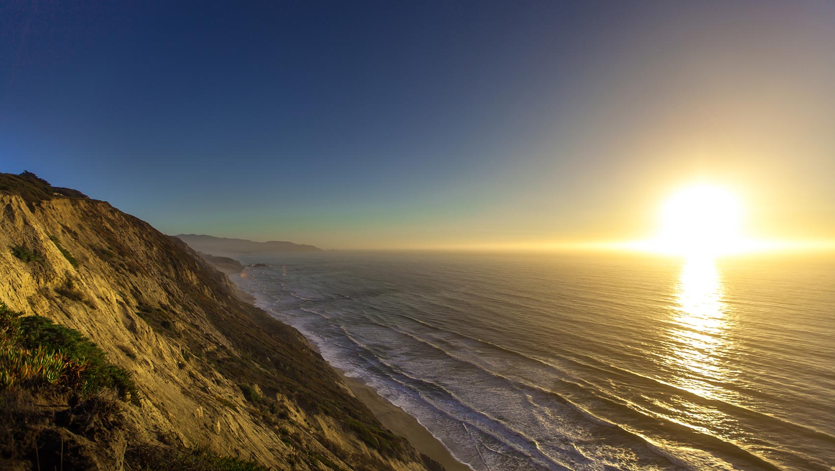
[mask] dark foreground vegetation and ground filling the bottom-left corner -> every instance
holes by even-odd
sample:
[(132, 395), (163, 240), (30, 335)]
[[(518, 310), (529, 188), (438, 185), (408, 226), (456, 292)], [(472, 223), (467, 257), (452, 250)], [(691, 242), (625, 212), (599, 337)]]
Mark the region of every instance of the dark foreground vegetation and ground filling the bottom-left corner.
[[(23, 316), (0, 303), (0, 467), (19, 463), (25, 468), (23, 463), (31, 462), (34, 454), (38, 468), (42, 460), (46, 466), (89, 468), (95, 455), (84, 443), (96, 438), (108, 441), (112, 437), (106, 432), (127, 430), (109, 391), (139, 406), (139, 391), (130, 373), (110, 363), (89, 338), (47, 318)], [(51, 418), (50, 413), (27, 404), (56, 394), (67, 398), (68, 404)], [(137, 471), (268, 469), (202, 448), (151, 443), (132, 444), (124, 450), (123, 459)]]

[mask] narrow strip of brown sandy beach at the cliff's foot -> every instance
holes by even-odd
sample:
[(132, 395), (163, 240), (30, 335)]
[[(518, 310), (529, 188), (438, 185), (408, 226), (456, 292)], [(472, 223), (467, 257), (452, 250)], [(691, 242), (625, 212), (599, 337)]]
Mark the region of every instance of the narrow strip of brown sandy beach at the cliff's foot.
[[(240, 273), (238, 273), (240, 276)], [(231, 279), (230, 279), (231, 281)], [(245, 293), (238, 288), (237, 283), (232, 282), (235, 288), (235, 296), (240, 301), (256, 306), (256, 298), (249, 293)], [(276, 319), (276, 322), (281, 322)], [(316, 344), (311, 342), (309, 338), (305, 338), (307, 345), (314, 352), (321, 356), (321, 351), (316, 347)], [(327, 361), (326, 361), (327, 363)], [(382, 423), (382, 426), (388, 428), (392, 433), (406, 438), (408, 443), (414, 447), (418, 453), (423, 453), (429, 458), (441, 463), (443, 468), (447, 471), (473, 471), (467, 464), (458, 461), (453, 457), (453, 453), (436, 438), (429, 430), (417, 421), (411, 414), (407, 413), (402, 408), (389, 402), (387, 398), (383, 398), (377, 390), (367, 385), (362, 381), (362, 378), (352, 378), (346, 376), (342, 369), (327, 363), (337, 376), (347, 386), (348, 391), (360, 402), (365, 404), (368, 410), (374, 414), (374, 417)]]

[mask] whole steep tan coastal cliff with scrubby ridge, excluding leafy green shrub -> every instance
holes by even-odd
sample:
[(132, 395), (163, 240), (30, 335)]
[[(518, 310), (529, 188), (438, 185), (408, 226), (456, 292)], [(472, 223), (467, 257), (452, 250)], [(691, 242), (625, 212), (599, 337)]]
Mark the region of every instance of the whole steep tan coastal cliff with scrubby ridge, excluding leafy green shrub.
[(135, 385), (4, 386), (0, 468), (440, 468), (185, 243), (32, 174), (0, 178), (0, 303), (83, 334)]

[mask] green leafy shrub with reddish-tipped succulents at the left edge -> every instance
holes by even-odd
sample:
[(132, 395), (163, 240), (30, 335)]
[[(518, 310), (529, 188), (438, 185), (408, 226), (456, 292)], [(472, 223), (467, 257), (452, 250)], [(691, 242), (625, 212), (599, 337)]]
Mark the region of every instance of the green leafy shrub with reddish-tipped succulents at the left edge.
[(139, 403), (130, 373), (89, 338), (48, 318), (21, 316), (0, 303), (0, 389), (53, 384), (83, 395), (116, 389)]

